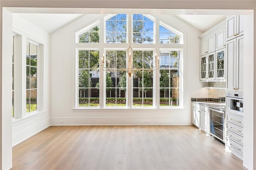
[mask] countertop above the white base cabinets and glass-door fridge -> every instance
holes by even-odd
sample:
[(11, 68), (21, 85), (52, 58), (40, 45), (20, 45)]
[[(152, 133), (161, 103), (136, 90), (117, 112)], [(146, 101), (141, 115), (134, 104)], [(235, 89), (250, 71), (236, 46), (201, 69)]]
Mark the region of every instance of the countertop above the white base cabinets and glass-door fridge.
[(223, 100), (218, 100), (218, 101), (214, 101), (214, 100), (209, 100), (209, 99), (198, 99), (194, 100), (195, 98), (192, 98), (191, 101), (194, 103), (198, 103), (200, 105), (206, 106), (206, 107), (210, 107), (212, 109), (216, 109), (219, 111), (225, 111), (226, 110), (226, 103)]

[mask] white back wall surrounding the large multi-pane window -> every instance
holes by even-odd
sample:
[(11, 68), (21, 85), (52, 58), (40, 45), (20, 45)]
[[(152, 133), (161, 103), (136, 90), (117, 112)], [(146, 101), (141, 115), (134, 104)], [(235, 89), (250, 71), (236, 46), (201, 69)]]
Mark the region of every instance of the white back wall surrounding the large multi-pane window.
[[(200, 41), (198, 36), (202, 32), (172, 15), (157, 15), (156, 17), (160, 21), (182, 30), (185, 34), (184, 109), (72, 111), (74, 101), (74, 32), (103, 16), (99, 14), (82, 16), (51, 34), (51, 125), (190, 125), (190, 98), (207, 97), (207, 90), (202, 89), (202, 84), (199, 81)], [(60, 121), (63, 123), (60, 124)]]

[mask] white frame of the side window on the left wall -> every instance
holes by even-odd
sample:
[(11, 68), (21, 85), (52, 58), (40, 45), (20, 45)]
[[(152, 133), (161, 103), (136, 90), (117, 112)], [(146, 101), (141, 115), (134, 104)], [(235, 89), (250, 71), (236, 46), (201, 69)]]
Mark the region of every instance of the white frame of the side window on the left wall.
[[(46, 112), (45, 43), (14, 30), (14, 117), (22, 121)], [(37, 45), (37, 110), (26, 113), (26, 42)]]

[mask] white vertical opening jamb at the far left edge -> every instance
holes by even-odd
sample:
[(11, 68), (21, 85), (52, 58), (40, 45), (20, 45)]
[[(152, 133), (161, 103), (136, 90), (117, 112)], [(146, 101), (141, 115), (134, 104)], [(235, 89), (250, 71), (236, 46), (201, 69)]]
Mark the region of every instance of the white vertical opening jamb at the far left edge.
[(3, 9), (2, 43), (2, 169), (12, 167), (12, 13)]

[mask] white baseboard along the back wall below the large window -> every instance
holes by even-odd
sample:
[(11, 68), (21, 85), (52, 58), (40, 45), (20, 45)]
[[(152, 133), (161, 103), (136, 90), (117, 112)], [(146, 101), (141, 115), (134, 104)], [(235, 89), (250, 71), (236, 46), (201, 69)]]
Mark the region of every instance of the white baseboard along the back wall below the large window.
[(192, 125), (191, 118), (50, 118), (50, 125)]

